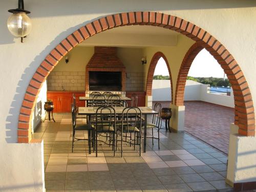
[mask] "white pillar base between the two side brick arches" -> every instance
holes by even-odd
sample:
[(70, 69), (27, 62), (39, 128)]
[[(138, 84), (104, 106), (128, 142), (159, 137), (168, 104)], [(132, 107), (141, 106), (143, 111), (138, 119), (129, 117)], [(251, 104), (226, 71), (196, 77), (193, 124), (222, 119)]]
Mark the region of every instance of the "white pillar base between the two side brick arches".
[(170, 127), (175, 132), (184, 132), (185, 130), (185, 106), (177, 106), (175, 104), (170, 104), (172, 108), (172, 118), (170, 118)]

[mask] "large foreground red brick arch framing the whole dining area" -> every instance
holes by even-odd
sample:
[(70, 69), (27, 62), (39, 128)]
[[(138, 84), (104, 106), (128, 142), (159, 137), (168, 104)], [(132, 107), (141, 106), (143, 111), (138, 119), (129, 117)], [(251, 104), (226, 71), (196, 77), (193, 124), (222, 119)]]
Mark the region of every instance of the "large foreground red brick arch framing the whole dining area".
[(58, 61), (81, 41), (96, 33), (126, 25), (151, 25), (174, 30), (206, 47), (212, 55), (218, 58), (217, 60), (225, 68), (225, 72), (232, 84), (237, 105), (239, 133), (245, 136), (254, 136), (254, 108), (247, 81), (236, 60), (215, 37), (180, 17), (157, 12), (128, 12), (108, 15), (94, 20), (63, 39), (46, 56), (29, 83), (20, 108), (17, 130), (18, 142), (29, 142), (30, 119), (36, 97), (42, 83)]

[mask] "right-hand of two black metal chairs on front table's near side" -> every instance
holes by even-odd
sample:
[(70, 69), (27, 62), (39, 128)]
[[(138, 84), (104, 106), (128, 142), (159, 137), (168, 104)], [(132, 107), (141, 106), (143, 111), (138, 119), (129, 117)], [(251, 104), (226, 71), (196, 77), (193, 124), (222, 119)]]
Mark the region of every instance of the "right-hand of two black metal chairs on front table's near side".
[[(131, 119), (130, 116), (133, 115), (136, 118)], [(121, 157), (123, 157), (123, 137), (125, 137), (125, 141), (127, 136), (123, 136), (127, 134), (134, 134), (134, 150), (136, 150), (136, 145), (140, 146), (140, 156), (141, 156), (141, 110), (137, 107), (126, 107), (122, 111), (122, 122), (121, 126), (117, 126), (117, 134), (116, 134), (116, 150), (117, 150), (117, 141), (118, 141), (118, 131), (121, 135)], [(139, 134), (139, 135), (138, 135)], [(136, 144), (136, 138), (139, 138), (139, 143)], [(130, 140), (130, 146), (132, 145), (132, 136)]]

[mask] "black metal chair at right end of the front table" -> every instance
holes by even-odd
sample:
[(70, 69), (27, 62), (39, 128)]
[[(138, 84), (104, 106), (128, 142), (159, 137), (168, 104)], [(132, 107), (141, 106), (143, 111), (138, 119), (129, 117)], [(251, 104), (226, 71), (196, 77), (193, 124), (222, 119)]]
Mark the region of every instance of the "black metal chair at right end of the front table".
[[(146, 138), (152, 138), (152, 144), (154, 145), (154, 139), (157, 139), (158, 140), (158, 149), (160, 149), (160, 137), (159, 137), (159, 134), (160, 134), (160, 127), (162, 125), (162, 121), (161, 121), (161, 111), (162, 111), (162, 105), (161, 103), (157, 102), (155, 105), (154, 105), (154, 111), (158, 112), (157, 114), (154, 114), (152, 116), (152, 123), (148, 122), (146, 124), (146, 129), (152, 129), (152, 137), (146, 137)], [(144, 128), (144, 126), (143, 126)], [(158, 132), (158, 137), (154, 137), (154, 129), (157, 129), (157, 132)], [(144, 129), (144, 131), (146, 131)], [(144, 138), (144, 139), (146, 139)]]

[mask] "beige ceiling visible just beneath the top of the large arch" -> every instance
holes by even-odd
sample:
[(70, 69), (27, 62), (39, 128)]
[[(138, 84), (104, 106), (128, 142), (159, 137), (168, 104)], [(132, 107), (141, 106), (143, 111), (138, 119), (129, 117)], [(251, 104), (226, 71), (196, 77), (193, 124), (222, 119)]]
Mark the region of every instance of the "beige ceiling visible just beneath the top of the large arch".
[(100, 32), (80, 46), (176, 46), (178, 32), (155, 26), (122, 26)]

